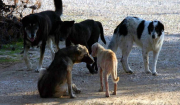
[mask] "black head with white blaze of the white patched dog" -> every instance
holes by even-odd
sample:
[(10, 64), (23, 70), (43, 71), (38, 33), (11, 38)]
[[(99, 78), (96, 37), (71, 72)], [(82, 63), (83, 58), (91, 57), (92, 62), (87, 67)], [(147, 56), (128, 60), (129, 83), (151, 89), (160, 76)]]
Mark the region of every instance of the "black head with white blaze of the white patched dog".
[(164, 25), (159, 21), (152, 21), (148, 26), (148, 32), (152, 39), (156, 39), (163, 34)]

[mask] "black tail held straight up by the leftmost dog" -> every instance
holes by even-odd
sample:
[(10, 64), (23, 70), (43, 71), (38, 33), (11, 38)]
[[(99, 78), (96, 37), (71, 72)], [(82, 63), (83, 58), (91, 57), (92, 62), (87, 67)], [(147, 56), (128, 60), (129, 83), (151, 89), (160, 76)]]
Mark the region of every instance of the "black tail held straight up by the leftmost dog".
[(55, 12), (61, 16), (63, 12), (62, 0), (54, 0)]

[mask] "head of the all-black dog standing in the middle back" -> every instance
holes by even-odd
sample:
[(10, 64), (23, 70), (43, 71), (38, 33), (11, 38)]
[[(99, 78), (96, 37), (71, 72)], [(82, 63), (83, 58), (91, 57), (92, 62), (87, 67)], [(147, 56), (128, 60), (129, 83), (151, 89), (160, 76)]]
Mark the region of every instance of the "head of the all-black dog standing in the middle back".
[(64, 41), (70, 35), (74, 21), (62, 21), (58, 29), (59, 40)]

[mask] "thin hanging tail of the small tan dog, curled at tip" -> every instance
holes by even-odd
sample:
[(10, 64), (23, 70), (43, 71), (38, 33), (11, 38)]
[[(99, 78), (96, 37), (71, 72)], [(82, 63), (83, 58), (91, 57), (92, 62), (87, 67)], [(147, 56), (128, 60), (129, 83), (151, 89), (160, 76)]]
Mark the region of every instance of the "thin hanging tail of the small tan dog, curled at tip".
[(114, 62), (116, 64), (113, 64), (113, 70), (111, 71), (112, 81), (114, 83), (117, 83), (119, 81), (119, 77), (117, 76), (117, 62)]

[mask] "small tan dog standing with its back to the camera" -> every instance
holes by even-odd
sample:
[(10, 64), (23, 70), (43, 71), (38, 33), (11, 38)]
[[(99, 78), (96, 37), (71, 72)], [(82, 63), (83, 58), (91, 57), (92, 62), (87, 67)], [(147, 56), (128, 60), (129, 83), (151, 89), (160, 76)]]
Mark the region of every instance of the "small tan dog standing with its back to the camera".
[(119, 81), (119, 77), (117, 77), (117, 58), (116, 54), (109, 49), (104, 49), (99, 43), (95, 43), (91, 47), (92, 56), (97, 57), (97, 66), (100, 71), (100, 92), (103, 91), (103, 71), (104, 71), (104, 82), (106, 86), (106, 97), (109, 97), (109, 85), (108, 85), (108, 77), (111, 74), (112, 81), (114, 82), (114, 93), (116, 95), (117, 91), (117, 82)]

